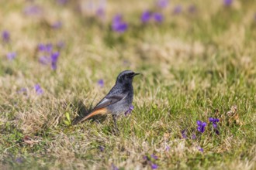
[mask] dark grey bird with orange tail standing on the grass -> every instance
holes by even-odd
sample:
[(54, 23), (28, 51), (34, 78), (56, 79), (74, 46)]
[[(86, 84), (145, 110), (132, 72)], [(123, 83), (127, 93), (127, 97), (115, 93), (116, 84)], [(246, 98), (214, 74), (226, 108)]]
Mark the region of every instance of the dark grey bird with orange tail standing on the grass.
[(140, 73), (134, 73), (130, 70), (125, 70), (116, 78), (116, 84), (109, 93), (102, 100), (99, 101), (94, 109), (80, 121), (75, 124), (79, 124), (86, 119), (95, 116), (96, 114), (112, 114), (115, 129), (116, 117), (119, 114), (125, 113), (130, 109), (133, 103), (133, 77)]

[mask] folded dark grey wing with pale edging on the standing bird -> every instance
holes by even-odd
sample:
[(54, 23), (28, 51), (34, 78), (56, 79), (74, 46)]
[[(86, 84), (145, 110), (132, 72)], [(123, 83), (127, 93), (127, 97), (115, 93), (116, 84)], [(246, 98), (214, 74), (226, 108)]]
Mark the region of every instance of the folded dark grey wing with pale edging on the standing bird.
[(103, 98), (99, 102), (99, 104), (97, 104), (95, 106), (95, 108), (93, 110), (99, 110), (99, 109), (109, 106), (110, 104), (115, 104), (116, 102), (123, 100), (127, 95), (128, 95), (128, 93), (107, 96), (107, 97)]

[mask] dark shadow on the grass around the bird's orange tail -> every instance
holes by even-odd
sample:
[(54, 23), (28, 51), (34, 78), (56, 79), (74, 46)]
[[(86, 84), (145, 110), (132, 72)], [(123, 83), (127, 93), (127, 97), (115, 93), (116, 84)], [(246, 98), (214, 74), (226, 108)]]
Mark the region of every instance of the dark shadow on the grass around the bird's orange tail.
[[(78, 121), (80, 121), (83, 117), (90, 114), (93, 109), (92, 104), (89, 107), (86, 107), (81, 100), (74, 100), (73, 102), (71, 102), (71, 107), (78, 110), (77, 112), (78, 117), (74, 118), (74, 120), (72, 121), (72, 125), (76, 125)], [(88, 120), (96, 121), (97, 123), (102, 123), (103, 121), (106, 120), (106, 117), (107, 117), (106, 114), (105, 115), (99, 114), (99, 115), (95, 115), (94, 117), (88, 118)]]

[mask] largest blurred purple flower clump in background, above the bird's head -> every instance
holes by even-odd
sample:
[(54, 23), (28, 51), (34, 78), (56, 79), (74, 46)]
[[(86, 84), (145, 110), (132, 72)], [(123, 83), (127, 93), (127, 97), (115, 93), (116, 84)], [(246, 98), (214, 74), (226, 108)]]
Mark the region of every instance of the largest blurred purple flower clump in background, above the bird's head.
[(112, 19), (112, 30), (115, 32), (123, 33), (128, 29), (126, 22), (123, 22), (122, 15), (116, 15)]

